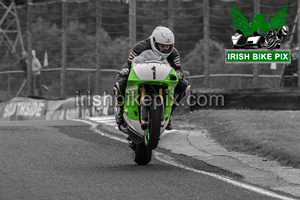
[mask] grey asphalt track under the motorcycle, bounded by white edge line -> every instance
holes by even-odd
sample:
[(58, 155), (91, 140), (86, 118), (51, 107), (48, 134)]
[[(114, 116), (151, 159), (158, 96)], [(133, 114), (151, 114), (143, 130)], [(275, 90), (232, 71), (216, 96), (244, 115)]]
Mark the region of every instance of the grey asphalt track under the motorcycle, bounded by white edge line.
[[(163, 151), (158, 149), (158, 151)], [(184, 156), (184, 165), (239, 178)], [(69, 121), (0, 122), (0, 199), (273, 199), (153, 158)]]

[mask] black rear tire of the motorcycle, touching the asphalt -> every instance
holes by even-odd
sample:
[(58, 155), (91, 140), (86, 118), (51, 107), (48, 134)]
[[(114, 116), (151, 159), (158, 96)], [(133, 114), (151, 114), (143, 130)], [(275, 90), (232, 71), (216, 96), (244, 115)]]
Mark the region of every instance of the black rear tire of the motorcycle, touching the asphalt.
[(133, 160), (138, 165), (147, 165), (152, 158), (152, 150), (146, 148), (144, 143), (136, 145), (133, 151)]

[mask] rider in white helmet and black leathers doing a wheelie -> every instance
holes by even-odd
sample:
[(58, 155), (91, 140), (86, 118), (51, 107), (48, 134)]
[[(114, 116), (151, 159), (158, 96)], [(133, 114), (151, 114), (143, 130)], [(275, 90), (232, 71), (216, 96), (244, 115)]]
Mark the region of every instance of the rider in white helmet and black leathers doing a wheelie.
[[(117, 82), (114, 86), (114, 93), (117, 96), (117, 103), (120, 108), (120, 112), (116, 118), (117, 124), (123, 124), (123, 104), (125, 97), (125, 89), (127, 85), (128, 76), (131, 69), (131, 63), (135, 57), (140, 55), (143, 51), (153, 50), (153, 52), (160, 57), (161, 60), (167, 60), (168, 63), (176, 71), (178, 77), (178, 84), (175, 87), (175, 101), (177, 104), (179, 101), (189, 93), (190, 85), (186, 79), (184, 79), (183, 71), (181, 70), (180, 56), (176, 48), (174, 48), (175, 37), (173, 32), (163, 26), (158, 26), (154, 29), (151, 36), (138, 42), (131, 50), (128, 61), (122, 67), (122, 70), (117, 75)], [(172, 107), (172, 112), (175, 110), (176, 105)], [(166, 128), (172, 129), (171, 119)]]

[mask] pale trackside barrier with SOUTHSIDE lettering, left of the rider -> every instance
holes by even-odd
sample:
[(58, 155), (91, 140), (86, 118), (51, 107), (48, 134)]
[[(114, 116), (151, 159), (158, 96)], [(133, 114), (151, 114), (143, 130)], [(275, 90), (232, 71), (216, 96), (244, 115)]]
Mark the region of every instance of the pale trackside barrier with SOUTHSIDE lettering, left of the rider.
[(0, 120), (66, 120), (110, 115), (111, 104), (94, 106), (81, 104), (78, 99), (45, 100), (16, 97), (0, 103)]

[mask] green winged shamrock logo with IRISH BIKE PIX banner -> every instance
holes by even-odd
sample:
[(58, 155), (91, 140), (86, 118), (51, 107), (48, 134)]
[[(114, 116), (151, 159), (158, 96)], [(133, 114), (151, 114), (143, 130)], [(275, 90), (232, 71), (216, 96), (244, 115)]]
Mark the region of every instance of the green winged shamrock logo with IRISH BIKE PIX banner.
[(225, 63), (290, 63), (291, 50), (281, 49), (289, 32), (286, 26), (287, 6), (270, 21), (264, 13), (254, 14), (248, 22), (233, 5), (231, 19), (235, 28), (232, 49), (225, 50)]

